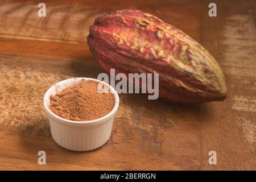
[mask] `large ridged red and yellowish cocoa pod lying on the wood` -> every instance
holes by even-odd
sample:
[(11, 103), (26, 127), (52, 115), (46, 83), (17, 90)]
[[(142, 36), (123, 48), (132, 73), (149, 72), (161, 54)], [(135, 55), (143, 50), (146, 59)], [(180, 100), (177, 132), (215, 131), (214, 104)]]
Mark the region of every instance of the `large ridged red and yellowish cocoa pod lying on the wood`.
[(198, 104), (226, 98), (217, 61), (181, 30), (140, 10), (118, 10), (90, 26), (87, 43), (107, 72), (159, 73), (159, 97)]

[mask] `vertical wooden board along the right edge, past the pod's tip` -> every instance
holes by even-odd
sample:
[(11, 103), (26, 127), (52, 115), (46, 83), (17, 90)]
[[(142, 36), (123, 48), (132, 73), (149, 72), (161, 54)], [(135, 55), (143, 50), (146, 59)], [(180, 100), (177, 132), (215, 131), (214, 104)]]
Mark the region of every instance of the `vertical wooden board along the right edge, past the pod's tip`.
[[(224, 102), (201, 106), (202, 169), (256, 169), (256, 16), (253, 7), (255, 10), (253, 1), (237, 1), (236, 6), (219, 2), (218, 18), (205, 18), (202, 22), (201, 42), (220, 63), (229, 91)], [(207, 155), (211, 150), (217, 152), (217, 165), (208, 164)]]

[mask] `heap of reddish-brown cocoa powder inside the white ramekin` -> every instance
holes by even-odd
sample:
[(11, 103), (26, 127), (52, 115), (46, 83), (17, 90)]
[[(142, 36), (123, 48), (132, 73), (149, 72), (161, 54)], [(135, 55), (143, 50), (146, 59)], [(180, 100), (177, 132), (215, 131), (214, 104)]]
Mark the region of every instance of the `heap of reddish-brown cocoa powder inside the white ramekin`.
[(98, 82), (82, 80), (55, 96), (51, 95), (49, 108), (62, 118), (73, 121), (89, 121), (101, 118), (114, 107), (112, 93), (99, 93)]

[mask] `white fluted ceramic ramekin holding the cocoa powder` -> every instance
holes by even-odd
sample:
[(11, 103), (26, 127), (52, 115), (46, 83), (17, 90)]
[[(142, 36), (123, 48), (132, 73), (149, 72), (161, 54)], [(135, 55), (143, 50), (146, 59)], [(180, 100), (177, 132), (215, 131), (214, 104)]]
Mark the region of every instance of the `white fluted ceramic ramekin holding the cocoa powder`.
[[(91, 121), (71, 121), (56, 115), (49, 109), (50, 96), (55, 95), (57, 91), (63, 90), (70, 85), (76, 84), (81, 80), (92, 80), (104, 83), (109, 86), (114, 94), (114, 107), (109, 114), (104, 117)], [(74, 151), (88, 151), (98, 148), (105, 144), (112, 132), (114, 115), (119, 105), (119, 97), (115, 89), (103, 81), (93, 78), (70, 78), (63, 80), (51, 86), (44, 94), (44, 109), (49, 117), (52, 138), (60, 146)]]

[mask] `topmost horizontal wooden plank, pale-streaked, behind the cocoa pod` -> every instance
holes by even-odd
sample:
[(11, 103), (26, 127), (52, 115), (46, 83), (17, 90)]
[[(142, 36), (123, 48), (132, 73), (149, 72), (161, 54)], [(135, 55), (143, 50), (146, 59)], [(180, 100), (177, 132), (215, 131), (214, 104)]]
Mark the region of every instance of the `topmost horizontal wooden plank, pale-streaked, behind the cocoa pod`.
[[(85, 42), (89, 26), (95, 18), (117, 9), (141, 9), (162, 17), (168, 23), (189, 32), (192, 38), (199, 39), (195, 26), (199, 19), (195, 18), (195, 6), (180, 6), (167, 2), (159, 3), (154, 8), (155, 1), (147, 4), (131, 1), (130, 5), (121, 5), (118, 1), (44, 1), (47, 6), (47, 16), (38, 17), (38, 3), (35, 1), (1, 1), (0, 2), (0, 32), (4, 38), (42, 40), (50, 42)], [(102, 5), (101, 5), (102, 4)], [(161, 4), (163, 6), (161, 6)], [(151, 5), (151, 6), (149, 6)], [(166, 6), (168, 5), (168, 6)], [(168, 9), (167, 9), (168, 8)], [(192, 10), (191, 10), (192, 9)], [(193, 24), (183, 24), (183, 19)]]

